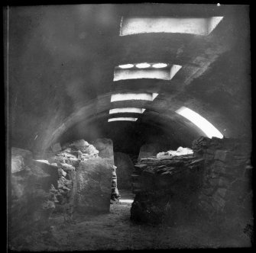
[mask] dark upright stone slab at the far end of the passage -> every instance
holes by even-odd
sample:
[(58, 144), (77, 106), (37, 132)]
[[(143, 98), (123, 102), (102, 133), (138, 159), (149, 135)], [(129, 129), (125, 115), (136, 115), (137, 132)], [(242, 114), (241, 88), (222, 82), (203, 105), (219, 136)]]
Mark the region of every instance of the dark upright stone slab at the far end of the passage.
[(118, 189), (131, 189), (131, 174), (134, 169), (133, 162), (129, 155), (116, 152), (115, 153), (116, 175), (118, 178)]

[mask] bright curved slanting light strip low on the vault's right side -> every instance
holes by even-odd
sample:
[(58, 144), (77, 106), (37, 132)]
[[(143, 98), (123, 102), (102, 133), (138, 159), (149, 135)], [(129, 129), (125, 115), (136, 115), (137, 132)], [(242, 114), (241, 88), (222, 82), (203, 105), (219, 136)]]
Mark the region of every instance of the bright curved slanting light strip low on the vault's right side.
[(196, 127), (199, 127), (200, 130), (202, 130), (204, 133), (206, 133), (206, 136), (209, 138), (212, 137), (218, 137), (220, 139), (223, 138), (222, 133), (219, 132), (215, 127), (212, 126), (212, 123), (209, 123), (208, 120), (194, 112), (193, 110), (190, 110), (187, 107), (181, 107), (179, 110), (176, 111), (177, 114), (180, 114), (183, 117), (186, 117), (186, 119), (190, 120), (192, 123), (196, 125)]

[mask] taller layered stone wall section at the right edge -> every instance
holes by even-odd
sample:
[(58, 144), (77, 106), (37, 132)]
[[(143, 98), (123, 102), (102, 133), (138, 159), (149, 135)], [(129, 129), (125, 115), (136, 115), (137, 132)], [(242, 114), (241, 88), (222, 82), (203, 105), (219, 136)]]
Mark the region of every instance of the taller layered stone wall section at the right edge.
[(219, 219), (241, 231), (252, 224), (251, 142), (201, 137), (193, 142), (204, 159), (199, 207), (207, 219)]

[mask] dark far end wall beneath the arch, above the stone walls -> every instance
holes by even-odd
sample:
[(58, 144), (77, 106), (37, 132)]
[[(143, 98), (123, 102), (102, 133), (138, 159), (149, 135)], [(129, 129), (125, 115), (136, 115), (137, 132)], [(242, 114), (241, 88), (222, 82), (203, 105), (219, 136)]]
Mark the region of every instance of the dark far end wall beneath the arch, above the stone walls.
[[(138, 155), (144, 143), (159, 143), (163, 150), (177, 149), (180, 142), (177, 142), (170, 133), (163, 128), (141, 123), (134, 126), (133, 123), (118, 123), (120, 127), (113, 127), (111, 124), (86, 124), (79, 123), (63, 133), (57, 141), (61, 144), (74, 139), (86, 139), (89, 143), (98, 138), (109, 138), (113, 141), (114, 152), (124, 152)], [(189, 145), (189, 143), (187, 143)]]

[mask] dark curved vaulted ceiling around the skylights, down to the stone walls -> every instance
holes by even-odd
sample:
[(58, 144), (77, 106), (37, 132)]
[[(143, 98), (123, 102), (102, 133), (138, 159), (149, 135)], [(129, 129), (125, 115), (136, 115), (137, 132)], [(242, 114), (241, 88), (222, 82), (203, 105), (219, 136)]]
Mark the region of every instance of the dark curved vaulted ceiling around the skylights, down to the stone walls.
[[(127, 152), (155, 141), (191, 146), (193, 139), (205, 133), (177, 114), (180, 107), (200, 114), (223, 136), (250, 136), (248, 10), (245, 5), (170, 4), (9, 8), (11, 146), (40, 151), (58, 141), (98, 137), (113, 139), (116, 150), (126, 147)], [(223, 18), (205, 35), (120, 36), (122, 21), (134, 17), (175, 18), (177, 22)], [(134, 78), (133, 74), (133, 78), (114, 81), (118, 66), (140, 62), (164, 62), (181, 69), (169, 80)], [(153, 101), (111, 102), (112, 94), (120, 93), (158, 95)], [(109, 114), (120, 107), (146, 110)], [(138, 120), (108, 122), (111, 117)]]

